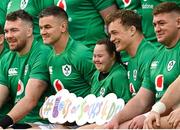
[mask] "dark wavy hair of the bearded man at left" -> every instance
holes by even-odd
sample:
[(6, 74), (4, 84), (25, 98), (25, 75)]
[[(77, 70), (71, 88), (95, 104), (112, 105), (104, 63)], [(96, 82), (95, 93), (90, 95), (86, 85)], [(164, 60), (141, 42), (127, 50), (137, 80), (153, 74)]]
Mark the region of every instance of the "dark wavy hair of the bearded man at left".
[(24, 10), (14, 11), (14, 12), (9, 13), (6, 16), (7, 21), (16, 21), (17, 19), (21, 19), (23, 21), (26, 21), (26, 22), (30, 23), (30, 25), (33, 27), (33, 18), (32, 18), (32, 16), (29, 15)]

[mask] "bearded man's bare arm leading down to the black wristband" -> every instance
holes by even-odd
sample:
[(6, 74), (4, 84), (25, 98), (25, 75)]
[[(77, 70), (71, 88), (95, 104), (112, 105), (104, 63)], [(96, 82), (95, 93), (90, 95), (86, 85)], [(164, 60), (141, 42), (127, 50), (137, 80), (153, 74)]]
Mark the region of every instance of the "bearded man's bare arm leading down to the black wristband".
[[(27, 115), (37, 105), (46, 88), (47, 83), (45, 81), (29, 79), (25, 90), (25, 96), (7, 114), (9, 116), (8, 118), (11, 118), (11, 121), (13, 121), (11, 123), (16, 123)], [(9, 125), (11, 124), (7, 124), (6, 127)]]

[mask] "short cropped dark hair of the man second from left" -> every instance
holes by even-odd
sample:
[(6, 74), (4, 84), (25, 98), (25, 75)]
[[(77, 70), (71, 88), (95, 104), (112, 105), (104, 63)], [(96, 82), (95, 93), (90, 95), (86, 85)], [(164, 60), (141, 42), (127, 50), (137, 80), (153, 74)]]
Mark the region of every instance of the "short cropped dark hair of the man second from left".
[(68, 21), (68, 15), (64, 9), (58, 7), (58, 6), (51, 6), (48, 8), (45, 8), (41, 11), (39, 14), (39, 18), (46, 17), (46, 16), (56, 16), (60, 19), (64, 19)]

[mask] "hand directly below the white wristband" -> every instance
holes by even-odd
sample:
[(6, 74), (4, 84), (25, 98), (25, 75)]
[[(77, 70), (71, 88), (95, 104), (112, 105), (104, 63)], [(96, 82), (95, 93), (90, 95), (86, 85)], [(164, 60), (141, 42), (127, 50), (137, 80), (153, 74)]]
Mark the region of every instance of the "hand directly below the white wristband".
[(151, 111), (144, 121), (143, 129), (153, 129), (153, 124), (160, 126), (160, 114)]

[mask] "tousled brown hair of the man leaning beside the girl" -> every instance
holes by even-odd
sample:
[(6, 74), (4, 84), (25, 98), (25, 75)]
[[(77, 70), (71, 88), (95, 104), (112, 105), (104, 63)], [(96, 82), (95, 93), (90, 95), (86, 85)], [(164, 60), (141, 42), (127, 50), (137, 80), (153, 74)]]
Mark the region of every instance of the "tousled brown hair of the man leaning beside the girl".
[(122, 25), (135, 26), (139, 32), (142, 32), (141, 17), (132, 10), (122, 9), (111, 13), (107, 16), (107, 26), (115, 20), (119, 20)]

